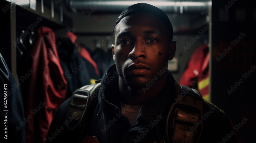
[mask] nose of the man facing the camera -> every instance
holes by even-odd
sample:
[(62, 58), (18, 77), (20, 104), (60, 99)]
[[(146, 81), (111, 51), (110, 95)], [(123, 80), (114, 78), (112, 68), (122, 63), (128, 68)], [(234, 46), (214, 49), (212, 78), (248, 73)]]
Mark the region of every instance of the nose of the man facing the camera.
[(135, 60), (137, 58), (146, 58), (147, 54), (146, 54), (146, 49), (143, 46), (144, 41), (142, 40), (137, 40), (134, 44), (134, 47), (132, 49), (132, 51), (129, 53), (129, 58), (132, 60)]

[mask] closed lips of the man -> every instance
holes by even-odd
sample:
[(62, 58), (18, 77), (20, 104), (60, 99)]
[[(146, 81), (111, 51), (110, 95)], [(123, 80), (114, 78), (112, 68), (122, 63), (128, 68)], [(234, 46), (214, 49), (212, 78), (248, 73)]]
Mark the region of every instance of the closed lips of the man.
[(131, 75), (143, 75), (146, 74), (150, 68), (143, 64), (132, 64), (127, 68), (127, 71)]

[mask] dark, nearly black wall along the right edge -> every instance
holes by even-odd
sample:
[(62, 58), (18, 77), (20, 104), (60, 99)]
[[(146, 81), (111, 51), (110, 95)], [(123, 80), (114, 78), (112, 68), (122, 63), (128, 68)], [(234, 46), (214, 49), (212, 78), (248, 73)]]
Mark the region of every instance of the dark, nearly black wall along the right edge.
[[(256, 62), (256, 9), (251, 2), (212, 2), (212, 102), (227, 113), (234, 125), (248, 119), (238, 130), (244, 142), (255, 141), (256, 129), (256, 71), (252, 71)], [(232, 49), (228, 51), (229, 46)]]

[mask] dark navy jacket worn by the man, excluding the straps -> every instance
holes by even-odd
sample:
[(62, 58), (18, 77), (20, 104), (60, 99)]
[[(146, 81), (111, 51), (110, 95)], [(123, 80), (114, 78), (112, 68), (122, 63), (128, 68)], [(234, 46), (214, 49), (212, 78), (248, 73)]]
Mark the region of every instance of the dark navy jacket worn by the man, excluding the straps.
[[(164, 90), (141, 108), (135, 123), (130, 126), (129, 120), (122, 115), (120, 110), (116, 67), (115, 65), (109, 67), (101, 79), (98, 97), (93, 99), (95, 104), (91, 104), (87, 113), (89, 120), (85, 125), (85, 132), (83, 132), (81, 140), (89, 135), (96, 136), (100, 143), (160, 142), (158, 135), (163, 134), (167, 114), (170, 106), (175, 102), (175, 80), (169, 71), (168, 73), (169, 80)], [(69, 142), (76, 138), (67, 131), (69, 121), (65, 121), (65, 116), (68, 102), (69, 99), (59, 107), (51, 123), (46, 143)], [(237, 134), (236, 128), (231, 127), (232, 123), (227, 115), (212, 103), (204, 102), (203, 106), (205, 115), (202, 118), (203, 132), (199, 143), (238, 142), (239, 134)], [(212, 113), (207, 113), (209, 111)], [(56, 133), (58, 130), (61, 132)], [(231, 135), (231, 131), (236, 134)], [(166, 137), (165, 142), (168, 142)]]

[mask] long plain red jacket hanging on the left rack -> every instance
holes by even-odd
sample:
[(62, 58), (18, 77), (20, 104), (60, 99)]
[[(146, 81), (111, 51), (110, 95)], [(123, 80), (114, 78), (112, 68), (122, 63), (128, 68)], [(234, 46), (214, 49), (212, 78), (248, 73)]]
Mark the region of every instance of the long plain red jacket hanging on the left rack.
[(33, 58), (25, 125), (26, 142), (42, 142), (55, 112), (64, 101), (67, 84), (55, 47), (55, 34), (48, 27), (38, 29), (38, 38), (30, 56)]

